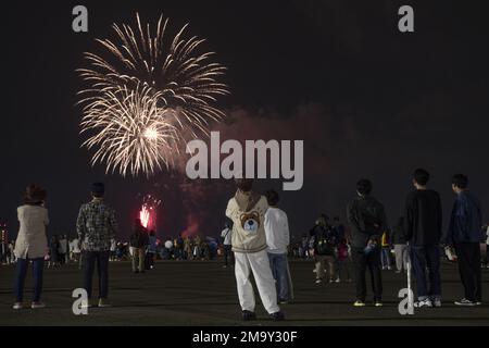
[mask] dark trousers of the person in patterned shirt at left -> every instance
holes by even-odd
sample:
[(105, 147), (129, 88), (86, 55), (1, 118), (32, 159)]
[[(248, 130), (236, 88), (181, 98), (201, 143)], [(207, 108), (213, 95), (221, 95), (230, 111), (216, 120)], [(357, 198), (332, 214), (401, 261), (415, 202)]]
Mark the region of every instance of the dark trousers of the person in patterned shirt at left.
[(95, 265), (99, 273), (99, 298), (106, 299), (109, 295), (109, 257), (110, 251), (84, 251), (84, 287), (91, 299), (91, 284)]

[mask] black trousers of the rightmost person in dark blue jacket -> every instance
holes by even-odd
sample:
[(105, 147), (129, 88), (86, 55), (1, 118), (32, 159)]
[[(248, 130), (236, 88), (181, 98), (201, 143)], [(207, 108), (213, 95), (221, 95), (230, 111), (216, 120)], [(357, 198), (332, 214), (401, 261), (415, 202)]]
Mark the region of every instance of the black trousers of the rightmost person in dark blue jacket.
[(480, 245), (478, 243), (456, 243), (460, 278), (464, 286), (465, 298), (482, 301), (482, 279), (480, 272)]

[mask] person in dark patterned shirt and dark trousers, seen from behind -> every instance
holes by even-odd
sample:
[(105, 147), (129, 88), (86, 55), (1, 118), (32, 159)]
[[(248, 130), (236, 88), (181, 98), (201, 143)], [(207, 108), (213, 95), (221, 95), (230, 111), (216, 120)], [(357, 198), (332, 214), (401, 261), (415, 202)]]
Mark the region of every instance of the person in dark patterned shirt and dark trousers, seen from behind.
[(91, 285), (95, 265), (99, 273), (99, 307), (110, 307), (109, 293), (109, 257), (111, 240), (117, 231), (115, 212), (103, 201), (103, 183), (95, 183), (91, 187), (92, 200), (79, 209), (76, 231), (82, 241), (84, 257), (84, 288), (88, 295), (88, 307), (91, 307)]

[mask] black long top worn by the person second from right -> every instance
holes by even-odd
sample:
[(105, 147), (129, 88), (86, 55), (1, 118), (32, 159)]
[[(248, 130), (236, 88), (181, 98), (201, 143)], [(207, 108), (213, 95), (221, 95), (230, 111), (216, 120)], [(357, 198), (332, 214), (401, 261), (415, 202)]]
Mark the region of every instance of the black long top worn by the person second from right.
[(417, 189), (405, 201), (405, 237), (412, 246), (438, 245), (441, 238), (440, 195)]

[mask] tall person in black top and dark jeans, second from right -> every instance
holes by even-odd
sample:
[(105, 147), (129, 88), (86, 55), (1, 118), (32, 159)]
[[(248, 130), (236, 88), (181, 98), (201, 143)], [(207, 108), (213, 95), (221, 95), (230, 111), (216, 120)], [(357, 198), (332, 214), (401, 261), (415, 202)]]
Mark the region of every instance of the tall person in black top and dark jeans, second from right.
[(441, 199), (437, 191), (427, 188), (428, 182), (426, 170), (414, 171), (415, 190), (405, 201), (404, 231), (416, 277), (417, 301), (414, 306), (417, 308), (441, 307)]

